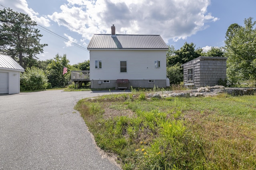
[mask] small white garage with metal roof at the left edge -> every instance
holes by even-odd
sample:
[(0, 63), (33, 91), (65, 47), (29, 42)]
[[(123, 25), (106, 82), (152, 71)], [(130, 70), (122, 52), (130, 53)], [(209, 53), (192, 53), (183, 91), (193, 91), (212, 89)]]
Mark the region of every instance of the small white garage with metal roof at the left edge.
[(0, 54), (0, 94), (20, 93), (22, 68), (12, 57)]

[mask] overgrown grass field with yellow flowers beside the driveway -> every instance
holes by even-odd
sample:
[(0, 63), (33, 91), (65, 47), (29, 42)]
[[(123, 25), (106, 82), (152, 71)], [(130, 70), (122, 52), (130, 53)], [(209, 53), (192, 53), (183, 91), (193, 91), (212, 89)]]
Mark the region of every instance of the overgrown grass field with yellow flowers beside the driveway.
[(256, 169), (256, 95), (145, 96), (106, 95), (75, 107), (122, 169)]

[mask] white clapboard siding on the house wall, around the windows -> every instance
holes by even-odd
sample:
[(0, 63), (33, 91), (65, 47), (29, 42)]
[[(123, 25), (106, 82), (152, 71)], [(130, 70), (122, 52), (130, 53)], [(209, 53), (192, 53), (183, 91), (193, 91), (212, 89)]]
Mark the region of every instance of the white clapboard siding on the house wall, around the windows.
[[(95, 60), (102, 61), (102, 69), (95, 69)], [(127, 73), (120, 73), (120, 61), (127, 61)], [(99, 79), (166, 79), (166, 50), (90, 50), (90, 80)]]

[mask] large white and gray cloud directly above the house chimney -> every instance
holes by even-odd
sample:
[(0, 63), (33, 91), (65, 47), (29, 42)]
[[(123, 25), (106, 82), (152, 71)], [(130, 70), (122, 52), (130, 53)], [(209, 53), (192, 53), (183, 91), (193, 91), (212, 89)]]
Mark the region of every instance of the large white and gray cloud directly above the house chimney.
[(93, 34), (160, 34), (186, 39), (218, 18), (207, 12), (210, 0), (68, 0), (48, 17), (90, 40)]

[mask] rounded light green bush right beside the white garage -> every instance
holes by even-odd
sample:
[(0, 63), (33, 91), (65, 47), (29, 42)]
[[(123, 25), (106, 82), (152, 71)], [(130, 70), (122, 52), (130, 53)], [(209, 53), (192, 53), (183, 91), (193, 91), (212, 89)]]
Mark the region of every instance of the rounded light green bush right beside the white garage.
[(47, 83), (48, 79), (42, 69), (32, 66), (27, 67), (20, 76), (20, 87), (22, 90), (46, 89), (51, 85)]

